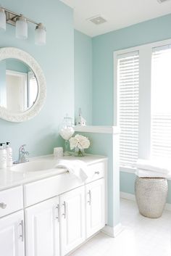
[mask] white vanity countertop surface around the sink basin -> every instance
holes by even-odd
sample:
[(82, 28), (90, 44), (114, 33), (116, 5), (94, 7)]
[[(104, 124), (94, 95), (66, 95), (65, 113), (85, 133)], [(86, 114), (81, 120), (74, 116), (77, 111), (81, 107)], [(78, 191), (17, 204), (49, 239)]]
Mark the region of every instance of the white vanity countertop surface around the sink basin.
[[(92, 165), (96, 162), (101, 162), (101, 160), (107, 160), (107, 157), (94, 155), (94, 154), (86, 154), (84, 157), (62, 157), (64, 160), (82, 160), (86, 162), (87, 165)], [(53, 155), (46, 155), (41, 157), (33, 157), (30, 158), (31, 161), (36, 160), (58, 160), (54, 158)], [(20, 165), (20, 164), (17, 164)], [(13, 166), (17, 166), (13, 165)], [(12, 171), (10, 168), (0, 169), (0, 191), (4, 189), (9, 189), (13, 186), (19, 186), (25, 183), (30, 183), (33, 181), (41, 180), (42, 178), (48, 178), (51, 176), (57, 176), (62, 173), (66, 173), (67, 170), (63, 168), (53, 168), (50, 170), (37, 170), (33, 172), (22, 172), (22, 171)]]

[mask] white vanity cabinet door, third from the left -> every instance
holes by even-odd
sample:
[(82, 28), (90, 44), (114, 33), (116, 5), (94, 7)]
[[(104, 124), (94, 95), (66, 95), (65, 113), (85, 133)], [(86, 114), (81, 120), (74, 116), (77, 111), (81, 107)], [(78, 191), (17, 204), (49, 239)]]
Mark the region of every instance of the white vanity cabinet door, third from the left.
[(66, 255), (85, 240), (85, 187), (59, 197), (61, 209), (61, 252)]

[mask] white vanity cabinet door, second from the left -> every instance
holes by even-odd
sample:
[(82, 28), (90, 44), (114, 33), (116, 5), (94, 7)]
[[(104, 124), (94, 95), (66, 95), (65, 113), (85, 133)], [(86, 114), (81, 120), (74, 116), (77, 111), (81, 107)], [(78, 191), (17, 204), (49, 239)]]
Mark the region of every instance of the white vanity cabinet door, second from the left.
[(26, 256), (59, 256), (59, 198), (25, 209)]

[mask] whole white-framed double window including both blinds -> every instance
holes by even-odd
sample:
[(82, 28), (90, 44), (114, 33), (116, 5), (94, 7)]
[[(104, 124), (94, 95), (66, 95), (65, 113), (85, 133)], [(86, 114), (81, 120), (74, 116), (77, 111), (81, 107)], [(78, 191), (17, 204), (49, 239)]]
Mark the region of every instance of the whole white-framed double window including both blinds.
[[(117, 89), (116, 89), (117, 88)], [(171, 40), (114, 52), (120, 167), (171, 157)]]

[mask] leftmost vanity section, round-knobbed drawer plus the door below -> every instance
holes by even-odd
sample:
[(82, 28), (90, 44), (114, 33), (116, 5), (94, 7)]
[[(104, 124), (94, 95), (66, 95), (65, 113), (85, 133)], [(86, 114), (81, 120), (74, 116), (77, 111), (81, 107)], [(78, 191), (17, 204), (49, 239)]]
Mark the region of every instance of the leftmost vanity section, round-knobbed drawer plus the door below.
[(22, 186), (0, 191), (0, 255), (2, 256), (25, 255), (22, 208)]

